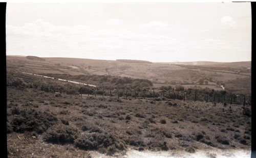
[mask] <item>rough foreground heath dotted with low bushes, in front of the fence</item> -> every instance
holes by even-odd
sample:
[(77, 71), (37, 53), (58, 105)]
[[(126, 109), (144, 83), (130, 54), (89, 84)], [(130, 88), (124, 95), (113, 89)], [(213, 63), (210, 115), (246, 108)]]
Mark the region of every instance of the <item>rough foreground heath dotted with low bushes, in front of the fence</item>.
[(87, 156), (88, 150), (110, 155), (128, 149), (196, 152), (251, 146), (251, 120), (242, 115), (241, 105), (102, 100), (101, 96), (55, 95), (13, 87), (7, 92), (9, 157)]

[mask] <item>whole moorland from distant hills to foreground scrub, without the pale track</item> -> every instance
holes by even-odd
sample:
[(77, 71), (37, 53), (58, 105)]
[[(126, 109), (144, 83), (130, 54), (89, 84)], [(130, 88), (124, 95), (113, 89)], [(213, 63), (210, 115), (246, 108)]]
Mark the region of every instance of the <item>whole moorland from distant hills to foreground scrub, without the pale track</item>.
[(243, 67), (140, 62), (8, 56), (8, 157), (250, 150)]

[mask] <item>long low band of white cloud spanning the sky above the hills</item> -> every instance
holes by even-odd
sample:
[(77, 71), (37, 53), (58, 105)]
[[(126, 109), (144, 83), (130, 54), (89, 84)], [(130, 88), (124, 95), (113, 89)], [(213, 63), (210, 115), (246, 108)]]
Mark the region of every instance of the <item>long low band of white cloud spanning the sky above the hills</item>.
[[(224, 21), (230, 21), (227, 19)], [(133, 27), (124, 22), (109, 19), (91, 21), (90, 26), (63, 26), (37, 19), (24, 26), (7, 25), (7, 54), (167, 62), (212, 60), (213, 56), (242, 52), (247, 47), (246, 42), (233, 42), (235, 39), (181, 34), (160, 21)], [(243, 44), (240, 49), (234, 49), (239, 44)]]

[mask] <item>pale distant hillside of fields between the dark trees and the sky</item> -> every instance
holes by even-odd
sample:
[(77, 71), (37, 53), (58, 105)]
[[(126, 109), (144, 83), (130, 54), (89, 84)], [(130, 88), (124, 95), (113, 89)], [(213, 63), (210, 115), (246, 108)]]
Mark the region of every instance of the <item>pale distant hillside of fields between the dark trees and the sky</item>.
[[(7, 56), (7, 71), (34, 74), (70, 75), (111, 75), (148, 79), (153, 83), (181, 85), (204, 85), (199, 80), (207, 80), (212, 85), (226, 85), (225, 88), (239, 92), (243, 86), (246, 93), (251, 91), (251, 62), (211, 63), (212, 65), (187, 65), (170, 63), (121, 62), (115, 60), (93, 60), (79, 58), (42, 58)], [(208, 62), (203, 62), (207, 64)], [(209, 63), (208, 63), (209, 64)], [(238, 80), (239, 82), (232, 82)], [(244, 84), (244, 80), (249, 82)], [(231, 81), (231, 82), (230, 82)], [(231, 84), (230, 84), (231, 83)], [(236, 84), (235, 84), (236, 83)]]

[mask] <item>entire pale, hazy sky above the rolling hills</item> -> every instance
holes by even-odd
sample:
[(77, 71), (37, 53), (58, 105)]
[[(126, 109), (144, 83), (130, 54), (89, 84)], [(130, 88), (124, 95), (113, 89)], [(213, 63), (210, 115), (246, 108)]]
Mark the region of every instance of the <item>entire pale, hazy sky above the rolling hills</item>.
[(8, 3), (7, 55), (251, 61), (250, 3)]

